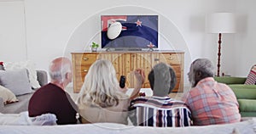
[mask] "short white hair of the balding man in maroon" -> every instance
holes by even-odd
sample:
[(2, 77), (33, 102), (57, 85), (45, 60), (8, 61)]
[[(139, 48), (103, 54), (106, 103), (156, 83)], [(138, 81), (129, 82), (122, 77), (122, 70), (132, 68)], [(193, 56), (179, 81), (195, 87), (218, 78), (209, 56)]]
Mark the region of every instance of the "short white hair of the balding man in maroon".
[(50, 67), (55, 63), (49, 64), (49, 77), (51, 80), (63, 82), (65, 80), (65, 75), (71, 72), (71, 64), (63, 63), (60, 65), (59, 70), (50, 70)]

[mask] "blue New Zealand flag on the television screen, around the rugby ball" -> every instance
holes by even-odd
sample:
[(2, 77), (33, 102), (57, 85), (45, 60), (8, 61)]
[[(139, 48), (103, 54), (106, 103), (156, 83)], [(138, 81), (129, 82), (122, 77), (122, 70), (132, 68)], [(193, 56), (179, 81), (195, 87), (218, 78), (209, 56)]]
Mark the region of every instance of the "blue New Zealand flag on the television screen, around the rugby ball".
[[(158, 47), (158, 15), (102, 15), (102, 48), (139, 47), (153, 44)], [(119, 21), (122, 31), (110, 40), (107, 36), (109, 25)]]

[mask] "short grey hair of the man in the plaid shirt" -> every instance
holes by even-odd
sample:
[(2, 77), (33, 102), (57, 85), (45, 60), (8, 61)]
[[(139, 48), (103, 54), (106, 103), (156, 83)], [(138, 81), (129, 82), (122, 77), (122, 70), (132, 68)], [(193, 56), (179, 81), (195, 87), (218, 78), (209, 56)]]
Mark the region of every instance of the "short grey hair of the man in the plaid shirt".
[(209, 59), (195, 59), (192, 65), (193, 71), (201, 71), (204, 77), (214, 75), (214, 67)]

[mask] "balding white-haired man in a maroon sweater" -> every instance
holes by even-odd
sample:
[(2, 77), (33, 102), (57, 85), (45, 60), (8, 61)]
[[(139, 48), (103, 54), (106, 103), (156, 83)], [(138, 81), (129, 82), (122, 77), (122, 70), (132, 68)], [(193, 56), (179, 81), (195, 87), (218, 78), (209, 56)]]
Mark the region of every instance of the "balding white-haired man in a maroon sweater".
[(67, 58), (54, 59), (49, 64), (50, 82), (40, 87), (29, 101), (28, 113), (30, 117), (41, 114), (55, 114), (58, 125), (77, 123), (77, 106), (64, 91), (72, 81), (72, 64)]

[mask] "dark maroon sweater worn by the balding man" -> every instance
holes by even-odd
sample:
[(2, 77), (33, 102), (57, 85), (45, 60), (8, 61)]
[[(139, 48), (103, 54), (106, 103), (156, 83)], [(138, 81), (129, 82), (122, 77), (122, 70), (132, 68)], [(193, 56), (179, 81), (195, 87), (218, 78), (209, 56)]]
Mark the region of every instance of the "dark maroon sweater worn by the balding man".
[(52, 83), (40, 87), (29, 101), (30, 117), (41, 114), (55, 114), (58, 125), (77, 123), (77, 106), (69, 94)]

